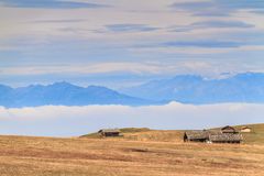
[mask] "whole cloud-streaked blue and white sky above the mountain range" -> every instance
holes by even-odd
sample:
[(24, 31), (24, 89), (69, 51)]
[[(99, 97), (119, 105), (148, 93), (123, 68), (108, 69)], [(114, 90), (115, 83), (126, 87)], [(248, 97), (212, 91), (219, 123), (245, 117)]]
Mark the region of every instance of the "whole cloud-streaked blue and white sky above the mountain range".
[(263, 73), (263, 21), (262, 0), (0, 0), (0, 84)]

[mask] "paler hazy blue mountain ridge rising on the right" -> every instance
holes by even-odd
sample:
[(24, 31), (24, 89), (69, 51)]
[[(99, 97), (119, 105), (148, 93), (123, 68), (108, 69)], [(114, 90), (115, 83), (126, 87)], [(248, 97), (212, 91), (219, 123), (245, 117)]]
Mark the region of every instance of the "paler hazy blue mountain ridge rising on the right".
[(180, 75), (122, 89), (130, 96), (185, 103), (264, 102), (264, 74), (246, 73), (224, 79)]

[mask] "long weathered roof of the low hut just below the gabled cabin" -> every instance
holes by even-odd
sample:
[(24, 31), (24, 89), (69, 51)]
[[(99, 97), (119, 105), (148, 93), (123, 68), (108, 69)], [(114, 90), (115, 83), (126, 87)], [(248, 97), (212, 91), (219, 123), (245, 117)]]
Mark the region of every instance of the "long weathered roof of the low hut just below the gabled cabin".
[(241, 134), (222, 133), (211, 134), (209, 135), (209, 140), (211, 142), (239, 142), (243, 140), (243, 136)]

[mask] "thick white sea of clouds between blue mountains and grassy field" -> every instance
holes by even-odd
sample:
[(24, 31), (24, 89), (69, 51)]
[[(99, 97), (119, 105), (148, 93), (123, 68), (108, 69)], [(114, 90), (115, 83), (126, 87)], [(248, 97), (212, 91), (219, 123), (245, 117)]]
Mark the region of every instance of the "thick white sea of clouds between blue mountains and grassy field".
[(206, 129), (263, 123), (264, 105), (219, 103), (165, 106), (0, 107), (0, 134), (77, 136), (102, 128)]

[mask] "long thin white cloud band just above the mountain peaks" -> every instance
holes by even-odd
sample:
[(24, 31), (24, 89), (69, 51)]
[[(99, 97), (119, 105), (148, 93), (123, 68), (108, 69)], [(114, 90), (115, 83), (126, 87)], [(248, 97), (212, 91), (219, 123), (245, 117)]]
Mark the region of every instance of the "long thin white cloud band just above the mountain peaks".
[(198, 61), (185, 59), (167, 63), (160, 62), (112, 62), (112, 63), (91, 63), (91, 64), (65, 64), (65, 65), (42, 65), (42, 66), (11, 66), (0, 67), (0, 74), (4, 76), (40, 76), (40, 75), (100, 75), (100, 74), (130, 74), (134, 76), (153, 75), (168, 76), (175, 75), (200, 75), (206, 78), (221, 78), (222, 74), (235, 75), (239, 73), (264, 73), (263, 63), (244, 63), (241, 61), (230, 61), (221, 63), (213, 59)]

